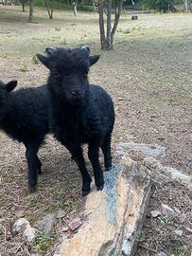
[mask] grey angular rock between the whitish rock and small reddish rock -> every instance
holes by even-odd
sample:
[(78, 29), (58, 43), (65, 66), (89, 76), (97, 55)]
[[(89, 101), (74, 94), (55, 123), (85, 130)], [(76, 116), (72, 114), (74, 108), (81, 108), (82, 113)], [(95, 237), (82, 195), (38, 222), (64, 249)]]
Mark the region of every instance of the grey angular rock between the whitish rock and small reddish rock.
[(49, 213), (44, 218), (35, 223), (34, 228), (42, 231), (44, 235), (50, 235), (51, 230), (56, 222), (56, 214)]

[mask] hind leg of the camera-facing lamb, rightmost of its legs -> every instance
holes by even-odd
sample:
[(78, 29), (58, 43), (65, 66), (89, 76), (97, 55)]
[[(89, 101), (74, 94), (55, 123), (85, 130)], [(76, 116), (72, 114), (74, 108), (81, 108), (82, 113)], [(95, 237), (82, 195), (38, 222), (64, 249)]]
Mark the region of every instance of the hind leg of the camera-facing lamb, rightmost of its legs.
[(101, 149), (104, 155), (105, 171), (108, 172), (112, 169), (111, 134), (105, 137)]

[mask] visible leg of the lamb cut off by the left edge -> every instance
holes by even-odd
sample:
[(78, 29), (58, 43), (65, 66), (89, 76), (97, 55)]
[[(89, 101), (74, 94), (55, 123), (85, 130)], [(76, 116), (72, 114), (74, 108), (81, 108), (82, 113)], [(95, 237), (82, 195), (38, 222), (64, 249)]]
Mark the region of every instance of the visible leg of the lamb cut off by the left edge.
[(30, 192), (34, 192), (38, 181), (38, 172), (40, 170), (40, 160), (37, 157), (40, 144), (26, 144), (26, 161), (28, 166), (28, 186)]

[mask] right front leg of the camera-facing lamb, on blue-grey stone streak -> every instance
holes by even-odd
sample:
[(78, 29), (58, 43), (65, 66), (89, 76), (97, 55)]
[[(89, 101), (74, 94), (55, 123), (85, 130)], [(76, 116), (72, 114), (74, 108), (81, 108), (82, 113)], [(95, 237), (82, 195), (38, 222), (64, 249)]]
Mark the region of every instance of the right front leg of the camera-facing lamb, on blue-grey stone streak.
[(104, 178), (103, 178), (103, 172), (100, 167), (100, 163), (98, 159), (98, 152), (99, 152), (98, 145), (95, 145), (95, 143), (89, 144), (88, 155), (94, 169), (96, 189), (97, 191), (102, 191), (104, 188)]

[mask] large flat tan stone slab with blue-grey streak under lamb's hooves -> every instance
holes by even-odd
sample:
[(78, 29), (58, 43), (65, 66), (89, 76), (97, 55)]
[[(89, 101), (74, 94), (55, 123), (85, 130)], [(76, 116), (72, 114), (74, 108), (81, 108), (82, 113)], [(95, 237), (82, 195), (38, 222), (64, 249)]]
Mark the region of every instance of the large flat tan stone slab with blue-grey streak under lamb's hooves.
[(86, 197), (84, 222), (63, 239), (57, 256), (134, 255), (148, 207), (147, 168), (124, 155), (105, 173), (105, 189)]

